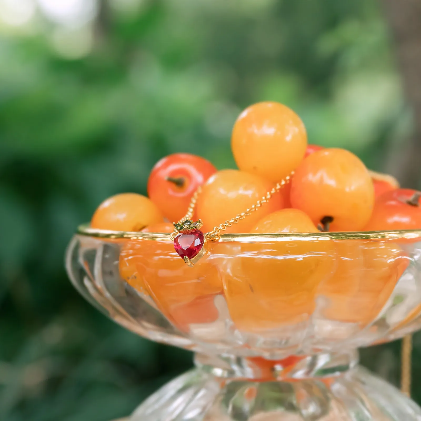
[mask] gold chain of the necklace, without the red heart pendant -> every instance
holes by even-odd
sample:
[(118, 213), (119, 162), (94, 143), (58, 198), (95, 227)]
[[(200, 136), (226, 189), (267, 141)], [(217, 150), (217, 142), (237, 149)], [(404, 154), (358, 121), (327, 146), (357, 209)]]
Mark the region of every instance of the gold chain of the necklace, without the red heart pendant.
[[(255, 212), (260, 208), (264, 203), (268, 203), (271, 197), (280, 191), (283, 187), (285, 187), (288, 183), (290, 183), (291, 178), (293, 176), (294, 172), (290, 173), (289, 176), (285, 177), (282, 181), (277, 183), (275, 187), (266, 193), (264, 197), (261, 198), (261, 200), (258, 200), (256, 204), (252, 205), (250, 208), (246, 209), (244, 212), (239, 213), (237, 216), (234, 216), (234, 218), (230, 219), (229, 221), (225, 221), (224, 223), (214, 226), (212, 231), (205, 234), (205, 237), (210, 241), (217, 241), (221, 238), (221, 231), (225, 231), (230, 226), (237, 224), (239, 221), (244, 219), (246, 216), (251, 215), (251, 213)], [(186, 219), (192, 219), (193, 213), (195, 211), (197, 198), (199, 197), (200, 193), (202, 192), (202, 187), (198, 187), (195, 191), (195, 194), (192, 196), (192, 200), (190, 201), (189, 208), (187, 209), (186, 215), (180, 219), (179, 222), (185, 221)], [(174, 233), (177, 231), (175, 230)]]

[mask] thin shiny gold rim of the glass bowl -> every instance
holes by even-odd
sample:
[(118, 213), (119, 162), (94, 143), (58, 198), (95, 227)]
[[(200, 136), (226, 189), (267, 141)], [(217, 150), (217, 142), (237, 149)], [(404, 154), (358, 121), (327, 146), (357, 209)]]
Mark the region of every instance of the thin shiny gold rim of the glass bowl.
[[(172, 242), (168, 233), (109, 231), (91, 228), (88, 224), (80, 225), (77, 234), (88, 237), (107, 239), (144, 239)], [(421, 237), (421, 229), (400, 231), (366, 231), (366, 232), (317, 232), (303, 234), (221, 234), (219, 242), (270, 242), (270, 241), (314, 241), (314, 240), (413, 240)]]

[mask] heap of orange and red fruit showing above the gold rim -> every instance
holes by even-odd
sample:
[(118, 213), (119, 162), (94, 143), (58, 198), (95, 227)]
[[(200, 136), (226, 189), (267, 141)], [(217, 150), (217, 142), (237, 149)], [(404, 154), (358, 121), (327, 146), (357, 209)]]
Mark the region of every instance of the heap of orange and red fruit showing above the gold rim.
[(232, 152), (239, 170), (217, 171), (204, 158), (184, 153), (163, 158), (149, 176), (149, 198), (135, 193), (110, 197), (96, 210), (91, 226), (172, 232), (172, 222), (186, 214), (202, 185), (195, 217), (207, 232), (244, 212), (295, 171), (279, 195), (226, 232), (421, 228), (419, 192), (397, 189), (392, 178), (373, 178), (344, 149), (308, 145), (300, 118), (282, 104), (263, 102), (245, 109), (234, 125)]

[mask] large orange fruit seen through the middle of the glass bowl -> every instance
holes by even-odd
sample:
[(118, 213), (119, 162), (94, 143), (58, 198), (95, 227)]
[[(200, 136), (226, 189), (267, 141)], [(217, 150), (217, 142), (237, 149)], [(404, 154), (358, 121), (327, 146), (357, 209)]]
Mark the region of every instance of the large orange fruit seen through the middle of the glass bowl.
[(334, 268), (332, 243), (260, 244), (226, 242), (230, 257), (221, 271), (226, 302), (240, 331), (274, 335), (279, 329), (282, 334), (285, 326), (305, 323), (314, 312), (317, 288)]

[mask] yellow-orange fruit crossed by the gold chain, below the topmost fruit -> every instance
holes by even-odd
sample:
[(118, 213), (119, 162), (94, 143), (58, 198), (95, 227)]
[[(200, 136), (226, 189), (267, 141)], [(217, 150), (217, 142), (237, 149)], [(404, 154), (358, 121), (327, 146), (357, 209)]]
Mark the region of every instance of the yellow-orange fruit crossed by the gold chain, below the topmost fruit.
[[(209, 232), (214, 226), (244, 212), (257, 200), (261, 200), (272, 187), (270, 181), (243, 171), (218, 171), (206, 181), (197, 199), (197, 216), (203, 221), (202, 231)], [(269, 203), (224, 232), (249, 232), (259, 219), (280, 208), (282, 197), (276, 193)]]

